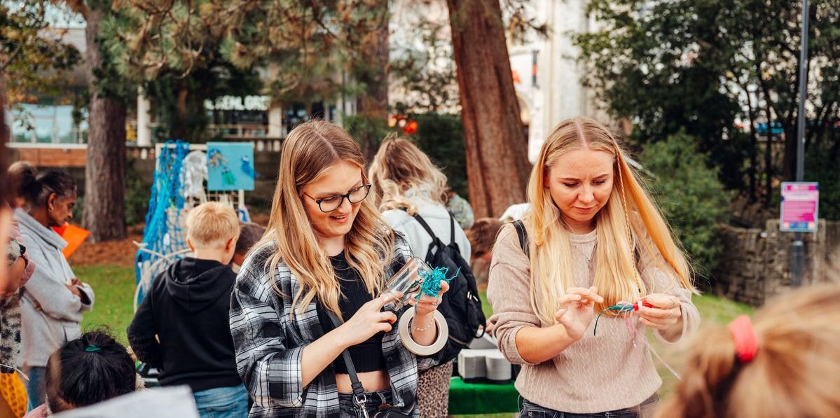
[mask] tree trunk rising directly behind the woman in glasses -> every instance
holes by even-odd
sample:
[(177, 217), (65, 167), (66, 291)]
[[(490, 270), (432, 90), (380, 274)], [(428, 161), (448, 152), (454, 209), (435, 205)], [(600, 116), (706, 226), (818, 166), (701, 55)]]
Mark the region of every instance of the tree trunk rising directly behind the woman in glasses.
[[(370, 13), (378, 16), (388, 13), (388, 3), (381, 1), (370, 7)], [(376, 23), (377, 19), (372, 19)], [(371, 27), (362, 41), (358, 81), (365, 85), (365, 93), (356, 100), (356, 114), (365, 118), (364, 130), (356, 135), (362, 154), (370, 162), (382, 141), (381, 129), (388, 119), (388, 19), (381, 19), (378, 27)]]

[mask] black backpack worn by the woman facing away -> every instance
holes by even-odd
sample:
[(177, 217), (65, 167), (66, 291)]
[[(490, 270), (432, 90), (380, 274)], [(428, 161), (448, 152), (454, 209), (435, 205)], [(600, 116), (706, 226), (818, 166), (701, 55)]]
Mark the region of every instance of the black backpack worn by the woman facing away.
[[(449, 291), (444, 293), (438, 305), (438, 311), (444, 315), (449, 325), (449, 341), (436, 356), (443, 364), (458, 357), (461, 349), (469, 346), (473, 338), (484, 335), (486, 318), (484, 311), (481, 311), (478, 286), (475, 285), (470, 264), (461, 256), (458, 244), (455, 243), (455, 221), (452, 215), (449, 214), (452, 229), (449, 245), (444, 245), (440, 238), (434, 235), (423, 217), (417, 214), (413, 217), (432, 237), (432, 243), (428, 245), (426, 252), (426, 264), (432, 268), (449, 267), (449, 274), (455, 274), (460, 269), (459, 274), (449, 282)], [(433, 252), (433, 248), (438, 249)]]

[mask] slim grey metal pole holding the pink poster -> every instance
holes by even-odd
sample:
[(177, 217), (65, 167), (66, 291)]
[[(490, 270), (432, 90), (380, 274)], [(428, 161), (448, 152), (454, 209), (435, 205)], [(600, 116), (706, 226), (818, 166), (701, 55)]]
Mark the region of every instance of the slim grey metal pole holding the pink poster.
[[(799, 114), (796, 118), (796, 181), (805, 180), (805, 101), (808, 86), (808, 0), (802, 0), (802, 36), (799, 57)], [(802, 285), (805, 273), (805, 243), (802, 233), (794, 233), (790, 248), (790, 285)]]

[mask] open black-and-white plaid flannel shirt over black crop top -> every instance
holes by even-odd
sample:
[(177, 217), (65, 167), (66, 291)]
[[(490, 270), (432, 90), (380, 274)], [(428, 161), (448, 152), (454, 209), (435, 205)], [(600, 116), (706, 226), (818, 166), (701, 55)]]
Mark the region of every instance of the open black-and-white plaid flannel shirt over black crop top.
[[(395, 233), (394, 257), (409, 258), (411, 248)], [(306, 387), (302, 384), (303, 347), (323, 336), (318, 305), (312, 301), (299, 314), (291, 313), (291, 300), (300, 282), (284, 263), (269, 274), (266, 261), (275, 244), (255, 249), (244, 261), (230, 300), (230, 333), (234, 337), (236, 366), (254, 405), (249, 417), (338, 417), (339, 392), (333, 367), (324, 368)], [(386, 277), (394, 271), (386, 269)], [(417, 358), (400, 342), (397, 327), (382, 338), (382, 353), (391, 377), (394, 406), (416, 403), (417, 373), (435, 365), (432, 358)], [(417, 408), (414, 415), (419, 416)]]

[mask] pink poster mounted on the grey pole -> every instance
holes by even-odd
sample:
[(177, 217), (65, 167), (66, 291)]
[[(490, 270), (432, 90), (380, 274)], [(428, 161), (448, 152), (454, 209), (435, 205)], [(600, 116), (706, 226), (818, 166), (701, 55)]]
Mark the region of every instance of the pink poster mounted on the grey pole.
[(795, 181), (782, 183), (779, 230), (784, 233), (816, 233), (819, 203), (820, 186), (818, 183)]

